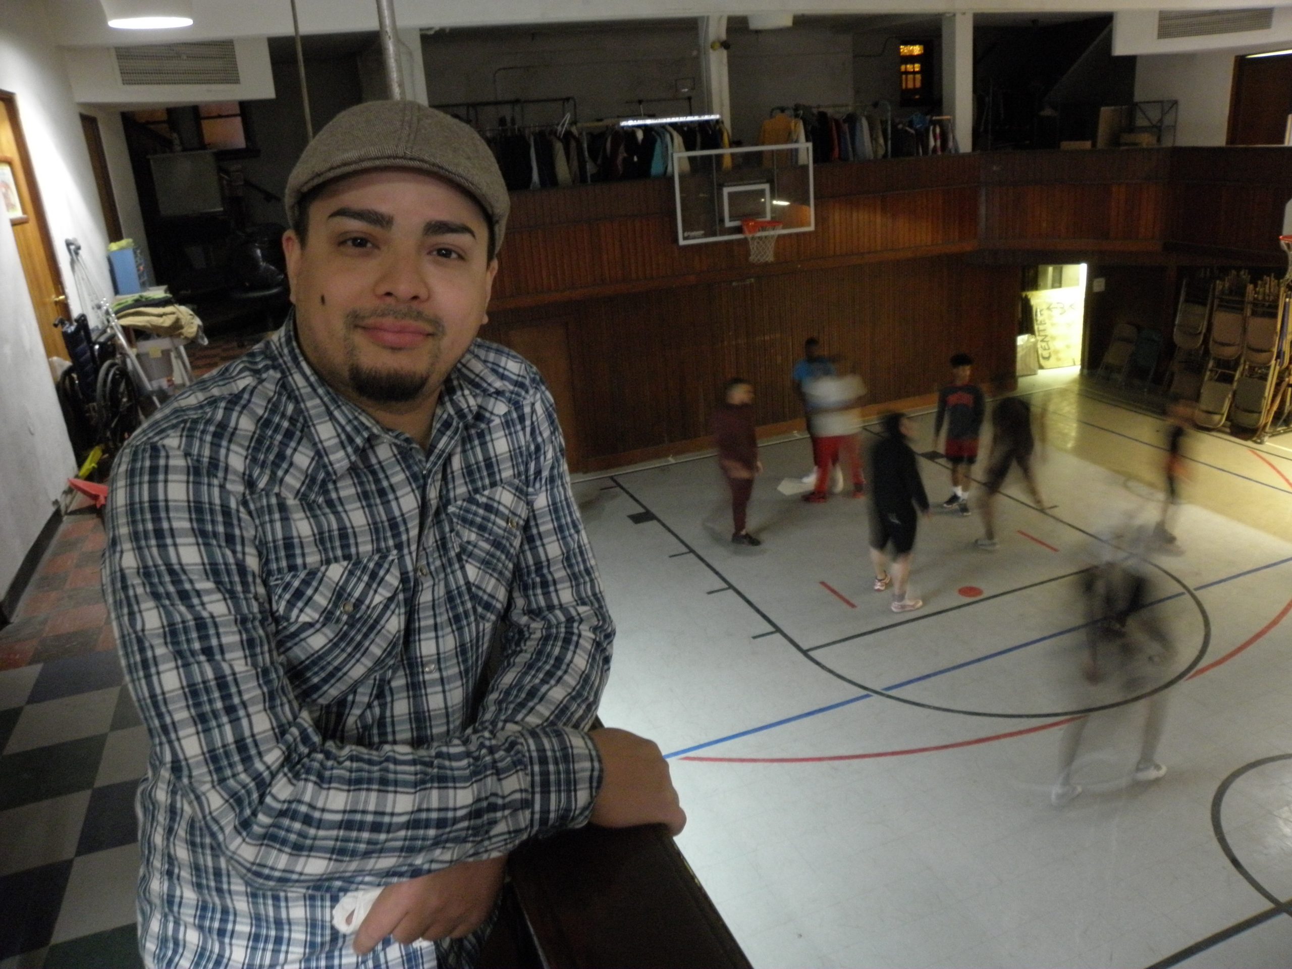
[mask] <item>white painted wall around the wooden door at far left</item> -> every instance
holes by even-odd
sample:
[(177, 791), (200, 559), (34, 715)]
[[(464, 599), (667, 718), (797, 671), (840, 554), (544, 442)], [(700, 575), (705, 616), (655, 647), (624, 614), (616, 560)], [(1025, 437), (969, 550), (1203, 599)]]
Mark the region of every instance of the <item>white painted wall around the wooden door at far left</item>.
[[(67, 296), (79, 313), (62, 240), (80, 239), (96, 286), (109, 292), (107, 239), (71, 85), (40, 0), (4, 0), (0, 88), (17, 96)], [(0, 373), (3, 590), (76, 470), (8, 220), (0, 220)]]

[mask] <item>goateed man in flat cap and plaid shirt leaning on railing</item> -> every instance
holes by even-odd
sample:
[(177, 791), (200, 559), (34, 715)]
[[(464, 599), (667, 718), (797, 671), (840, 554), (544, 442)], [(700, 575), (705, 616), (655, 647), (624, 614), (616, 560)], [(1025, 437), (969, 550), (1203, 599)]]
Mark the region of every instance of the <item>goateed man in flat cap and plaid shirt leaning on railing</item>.
[(487, 146), (359, 105), (286, 202), (292, 315), (111, 481), (151, 744), (140, 944), (168, 969), (470, 965), (522, 841), (685, 815), (654, 744), (590, 729), (614, 625), (552, 398), (475, 340), (509, 208)]

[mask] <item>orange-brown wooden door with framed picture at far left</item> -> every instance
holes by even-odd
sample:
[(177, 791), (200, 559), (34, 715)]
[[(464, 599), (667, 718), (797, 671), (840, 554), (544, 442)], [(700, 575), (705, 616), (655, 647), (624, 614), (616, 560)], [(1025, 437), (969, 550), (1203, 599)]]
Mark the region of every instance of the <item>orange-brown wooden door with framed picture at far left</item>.
[[(54, 320), (68, 313), (62, 274), (54, 260), (54, 248), (45, 224), (45, 209), (40, 204), (40, 189), (32, 177), (31, 156), (18, 121), (18, 103), (13, 94), (0, 90), (0, 162), (6, 162), (18, 189), (22, 214), (10, 218), (18, 240), (18, 257), (27, 276), (27, 292), (40, 324), (40, 341), (47, 357), (67, 357), (62, 333)], [(0, 216), (3, 217), (3, 216)]]

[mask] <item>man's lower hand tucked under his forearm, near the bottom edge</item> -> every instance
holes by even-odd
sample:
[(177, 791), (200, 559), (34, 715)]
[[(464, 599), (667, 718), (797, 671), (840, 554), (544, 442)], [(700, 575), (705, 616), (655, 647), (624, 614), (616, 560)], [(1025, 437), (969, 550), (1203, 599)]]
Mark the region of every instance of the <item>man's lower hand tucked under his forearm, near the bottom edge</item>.
[(494, 911), (503, 888), (506, 855), (483, 862), (459, 862), (420, 879), (388, 885), (359, 925), (354, 951), (371, 952), (386, 935), (408, 946), (417, 939), (460, 939)]

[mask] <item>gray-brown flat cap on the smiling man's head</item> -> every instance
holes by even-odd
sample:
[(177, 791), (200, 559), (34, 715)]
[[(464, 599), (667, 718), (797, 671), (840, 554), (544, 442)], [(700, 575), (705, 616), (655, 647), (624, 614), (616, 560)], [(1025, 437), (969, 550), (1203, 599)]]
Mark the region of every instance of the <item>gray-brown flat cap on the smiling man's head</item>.
[(301, 195), (372, 168), (413, 168), (439, 176), (474, 198), (503, 247), (512, 199), (494, 152), (470, 125), (416, 101), (368, 101), (349, 107), (314, 136), (287, 177), (287, 217), (300, 224)]

